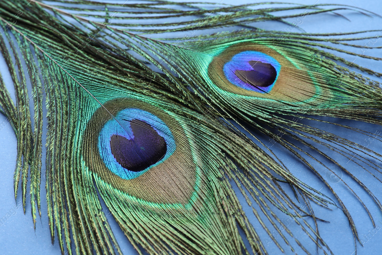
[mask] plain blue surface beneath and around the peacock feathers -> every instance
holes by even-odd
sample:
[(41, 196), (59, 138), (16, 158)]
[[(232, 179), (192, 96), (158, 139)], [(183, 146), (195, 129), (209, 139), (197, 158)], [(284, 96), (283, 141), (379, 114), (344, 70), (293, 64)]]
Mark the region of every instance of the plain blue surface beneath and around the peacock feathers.
[[(217, 3), (219, 1), (215, 1)], [(278, 2), (289, 2), (289, 1), (278, 1)], [(304, 3), (304, 4), (322, 4), (325, 3), (322, 0), (316, 2), (313, 1), (303, 1), (303, 0), (293, 0), (290, 2), (295, 3)], [(243, 4), (243, 3), (256, 3), (256, 0), (246, 1), (246, 0), (223, 0), (222, 4)], [(354, 8), (364, 8), (367, 10), (374, 11), (380, 15), (382, 15), (382, 2), (377, 0), (332, 0), (330, 3), (339, 3), (346, 4), (350, 6), (354, 6)], [(261, 7), (266, 7), (267, 5), (261, 4)], [(303, 12), (303, 10), (301, 10)], [(362, 31), (369, 29), (382, 29), (382, 18), (377, 16), (368, 17), (362, 13), (356, 13), (354, 11), (338, 11), (342, 15), (345, 15), (350, 21), (346, 20), (343, 17), (338, 15), (334, 15), (332, 13), (325, 13), (320, 15), (308, 15), (303, 20), (303, 23), (300, 24), (300, 27), (303, 28), (306, 32), (350, 32), (350, 31)], [(281, 13), (280, 13), (281, 14)], [(176, 22), (176, 18), (173, 20)], [(295, 21), (294, 18), (288, 19), (288, 21)], [(278, 29), (284, 30), (289, 28), (289, 25), (282, 24), (276, 21), (268, 21), (263, 23), (256, 24), (259, 28), (264, 29)], [(217, 29), (222, 31), (224, 29)], [(298, 28), (294, 28), (293, 32), (301, 32)], [(180, 32), (177, 36), (182, 37), (187, 32)], [(372, 32), (369, 35), (375, 36), (379, 34), (382, 36), (382, 32)], [(380, 42), (382, 39), (379, 39), (374, 46), (381, 46)], [(367, 40), (363, 41), (363, 43), (368, 43)], [(358, 42), (360, 43), (360, 42)], [(354, 52), (362, 54), (361, 49), (353, 49)], [(378, 57), (382, 57), (381, 49), (370, 49), (365, 54), (366, 55), (374, 55)], [(363, 65), (365, 67), (371, 68), (373, 70), (382, 72), (382, 64), (380, 62), (374, 60), (367, 60), (361, 57), (355, 56), (346, 56), (345, 54), (339, 54), (340, 56), (346, 57), (346, 59), (350, 61), (354, 61), (359, 65)], [(0, 57), (0, 71), (2, 72), (3, 78), (9, 88), (13, 86), (13, 83), (10, 79), (9, 74), (7, 74), (5, 62), (2, 57)], [(356, 71), (356, 70), (354, 70)], [(366, 75), (367, 76), (367, 75)], [(369, 76), (370, 77), (370, 76)], [(382, 81), (380, 78), (371, 77), (374, 80)], [(13, 89), (10, 89), (13, 90)], [(330, 120), (333, 121), (333, 120)], [(337, 123), (342, 123), (345, 125), (353, 125), (354, 127), (363, 128), (371, 133), (380, 133), (382, 132), (382, 128), (377, 125), (369, 125), (365, 123), (359, 122), (350, 122), (346, 120), (334, 120)], [(323, 129), (327, 129), (332, 132), (335, 132), (338, 135), (342, 136), (350, 136), (354, 140), (358, 141), (361, 145), (367, 146), (367, 148), (382, 153), (381, 143), (376, 140), (365, 140), (365, 137), (354, 135), (355, 133), (350, 133), (347, 130), (335, 127), (328, 127), (322, 125)], [(268, 145), (272, 145), (267, 138), (263, 139), (265, 143)], [(296, 158), (291, 156), (291, 153), (285, 151), (285, 149), (281, 148), (278, 145), (273, 145), (278, 155), (281, 155), (281, 158), (284, 162), (286, 162), (287, 166), (297, 177), (301, 178), (304, 182), (312, 185), (312, 187), (317, 188), (321, 192), (325, 194), (330, 194), (328, 188), (324, 187), (322, 182), (317, 181), (317, 178), (312, 174), (309, 169), (307, 169), (301, 162), (297, 161)], [(43, 151), (43, 154), (45, 151)], [(333, 154), (333, 158), (338, 157), (338, 155)], [(337, 158), (335, 158), (337, 160)], [(60, 249), (57, 244), (52, 245), (50, 243), (50, 233), (49, 233), (49, 224), (47, 219), (47, 209), (44, 203), (45, 198), (45, 188), (44, 188), (44, 172), (45, 168), (42, 169), (42, 190), (41, 190), (41, 198), (42, 198), (42, 218), (41, 221), (37, 219), (36, 230), (33, 229), (32, 217), (30, 213), (30, 205), (29, 201), (26, 206), (26, 214), (23, 213), (23, 209), (21, 205), (21, 197), (17, 199), (15, 202), (14, 192), (13, 192), (13, 171), (15, 169), (15, 161), (16, 161), (16, 136), (11, 129), (11, 126), (8, 124), (6, 118), (3, 115), (0, 115), (0, 220), (5, 217), (6, 220), (0, 223), (0, 254), (60, 254)], [(366, 171), (357, 167), (352, 162), (347, 163), (347, 160), (343, 160), (342, 158), (338, 158), (338, 162), (346, 165), (350, 171), (359, 177), (367, 187), (371, 189), (372, 192), (376, 195), (377, 198), (382, 200), (382, 184), (372, 178), (370, 174), (367, 174)], [(327, 175), (327, 170), (323, 167), (319, 167), (320, 174), (324, 177)], [(337, 171), (334, 167), (333, 170)], [(342, 173), (339, 171), (339, 175)], [(354, 181), (351, 180), (345, 173), (342, 174), (343, 180), (345, 180), (351, 188), (355, 192), (358, 193), (359, 197), (362, 201), (368, 206), (371, 211), (374, 220), (377, 225), (382, 227), (382, 213), (379, 211), (377, 206), (372, 202), (371, 198), (367, 195), (364, 190), (362, 190)], [(363, 206), (359, 201), (354, 197), (354, 195), (348, 190), (348, 188), (343, 185), (342, 182), (330, 182), (332, 184), (333, 189), (338, 193), (338, 195), (342, 198), (345, 205), (348, 207), (351, 215), (353, 216), (354, 222), (356, 223), (358, 233), (360, 238), (364, 241), (364, 247), (357, 242), (357, 254), (381, 254), (382, 249), (382, 229), (375, 229), (372, 226), (370, 218), (367, 216), (366, 211), (363, 209)], [(245, 205), (244, 199), (239, 195), (242, 204)], [(333, 196), (332, 196), (333, 197)], [(353, 242), (353, 235), (351, 234), (351, 230), (348, 224), (348, 221), (343, 214), (343, 212), (338, 208), (332, 208), (332, 211), (324, 210), (322, 208), (317, 208), (316, 214), (317, 217), (325, 218), (330, 221), (330, 223), (320, 223), (319, 231), (323, 239), (327, 242), (329, 247), (335, 254), (344, 254), (344, 255), (353, 255), (355, 254), (355, 247)], [(269, 236), (267, 236), (264, 232), (261, 231), (261, 226), (255, 221), (253, 213), (251, 212), (251, 208), (248, 206), (245, 207), (247, 211), (247, 215), (251, 218), (251, 222), (254, 224), (256, 229), (259, 229), (259, 232), (262, 234), (263, 241), (265, 247), (268, 248), (270, 254), (281, 254), (280, 250), (277, 247), (270, 243), (269, 246), (268, 240)], [(107, 213), (107, 210), (105, 210)], [(289, 217), (283, 216), (282, 213), (275, 211), (282, 219), (288, 219)], [(8, 217), (9, 216), (9, 217)], [(119, 241), (121, 250), (124, 254), (137, 254), (137, 252), (133, 249), (133, 247), (129, 244), (128, 240), (125, 238), (123, 233), (120, 231), (118, 225), (113, 220), (112, 216), (108, 216), (109, 223), (112, 226), (112, 229), (116, 235), (117, 240)], [(308, 240), (306, 234), (301, 231), (301, 227), (299, 227), (295, 223), (291, 223), (289, 226), (290, 230), (296, 233), (296, 237), (307, 247), (309, 252), (312, 254), (323, 254), (322, 251), (316, 252), (316, 248), (312, 242)], [(373, 231), (376, 234), (370, 235), (366, 237), (370, 232)], [(278, 241), (282, 241), (280, 236), (276, 237)], [(56, 240), (57, 241), (57, 240)], [(286, 254), (294, 254), (291, 252), (288, 247), (285, 245)], [(297, 245), (294, 245), (297, 248)], [(298, 253), (303, 253), (301, 250), (297, 249)]]

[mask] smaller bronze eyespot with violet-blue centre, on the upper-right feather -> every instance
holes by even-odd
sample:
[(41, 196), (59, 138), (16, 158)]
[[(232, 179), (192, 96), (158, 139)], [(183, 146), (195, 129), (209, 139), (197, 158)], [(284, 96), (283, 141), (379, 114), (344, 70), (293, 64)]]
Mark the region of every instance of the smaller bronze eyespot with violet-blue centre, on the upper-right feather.
[(223, 91), (288, 102), (308, 100), (317, 91), (306, 65), (281, 48), (242, 42), (219, 51), (207, 73)]

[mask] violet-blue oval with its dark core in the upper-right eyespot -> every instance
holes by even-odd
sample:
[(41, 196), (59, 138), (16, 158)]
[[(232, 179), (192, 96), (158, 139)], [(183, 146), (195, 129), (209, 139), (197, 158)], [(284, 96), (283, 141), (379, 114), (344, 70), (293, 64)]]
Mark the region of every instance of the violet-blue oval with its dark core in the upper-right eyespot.
[(272, 90), (281, 65), (273, 57), (258, 51), (243, 51), (234, 55), (223, 67), (224, 75), (236, 86), (269, 93)]

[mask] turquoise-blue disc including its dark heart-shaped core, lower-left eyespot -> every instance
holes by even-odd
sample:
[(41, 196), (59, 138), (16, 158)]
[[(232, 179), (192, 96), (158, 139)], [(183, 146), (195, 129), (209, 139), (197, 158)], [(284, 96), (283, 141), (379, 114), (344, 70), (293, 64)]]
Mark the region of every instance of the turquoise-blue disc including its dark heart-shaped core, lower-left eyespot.
[(129, 180), (165, 161), (176, 145), (161, 119), (144, 110), (128, 108), (105, 123), (98, 149), (108, 169)]

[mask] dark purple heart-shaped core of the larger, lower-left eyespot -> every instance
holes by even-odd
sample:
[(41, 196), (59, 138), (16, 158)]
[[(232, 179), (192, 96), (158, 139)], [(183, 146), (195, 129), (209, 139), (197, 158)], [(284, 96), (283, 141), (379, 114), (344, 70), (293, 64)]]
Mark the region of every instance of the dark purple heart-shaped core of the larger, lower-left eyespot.
[(129, 171), (139, 172), (163, 159), (167, 144), (154, 128), (142, 120), (131, 120), (134, 139), (112, 135), (110, 147), (117, 162)]

